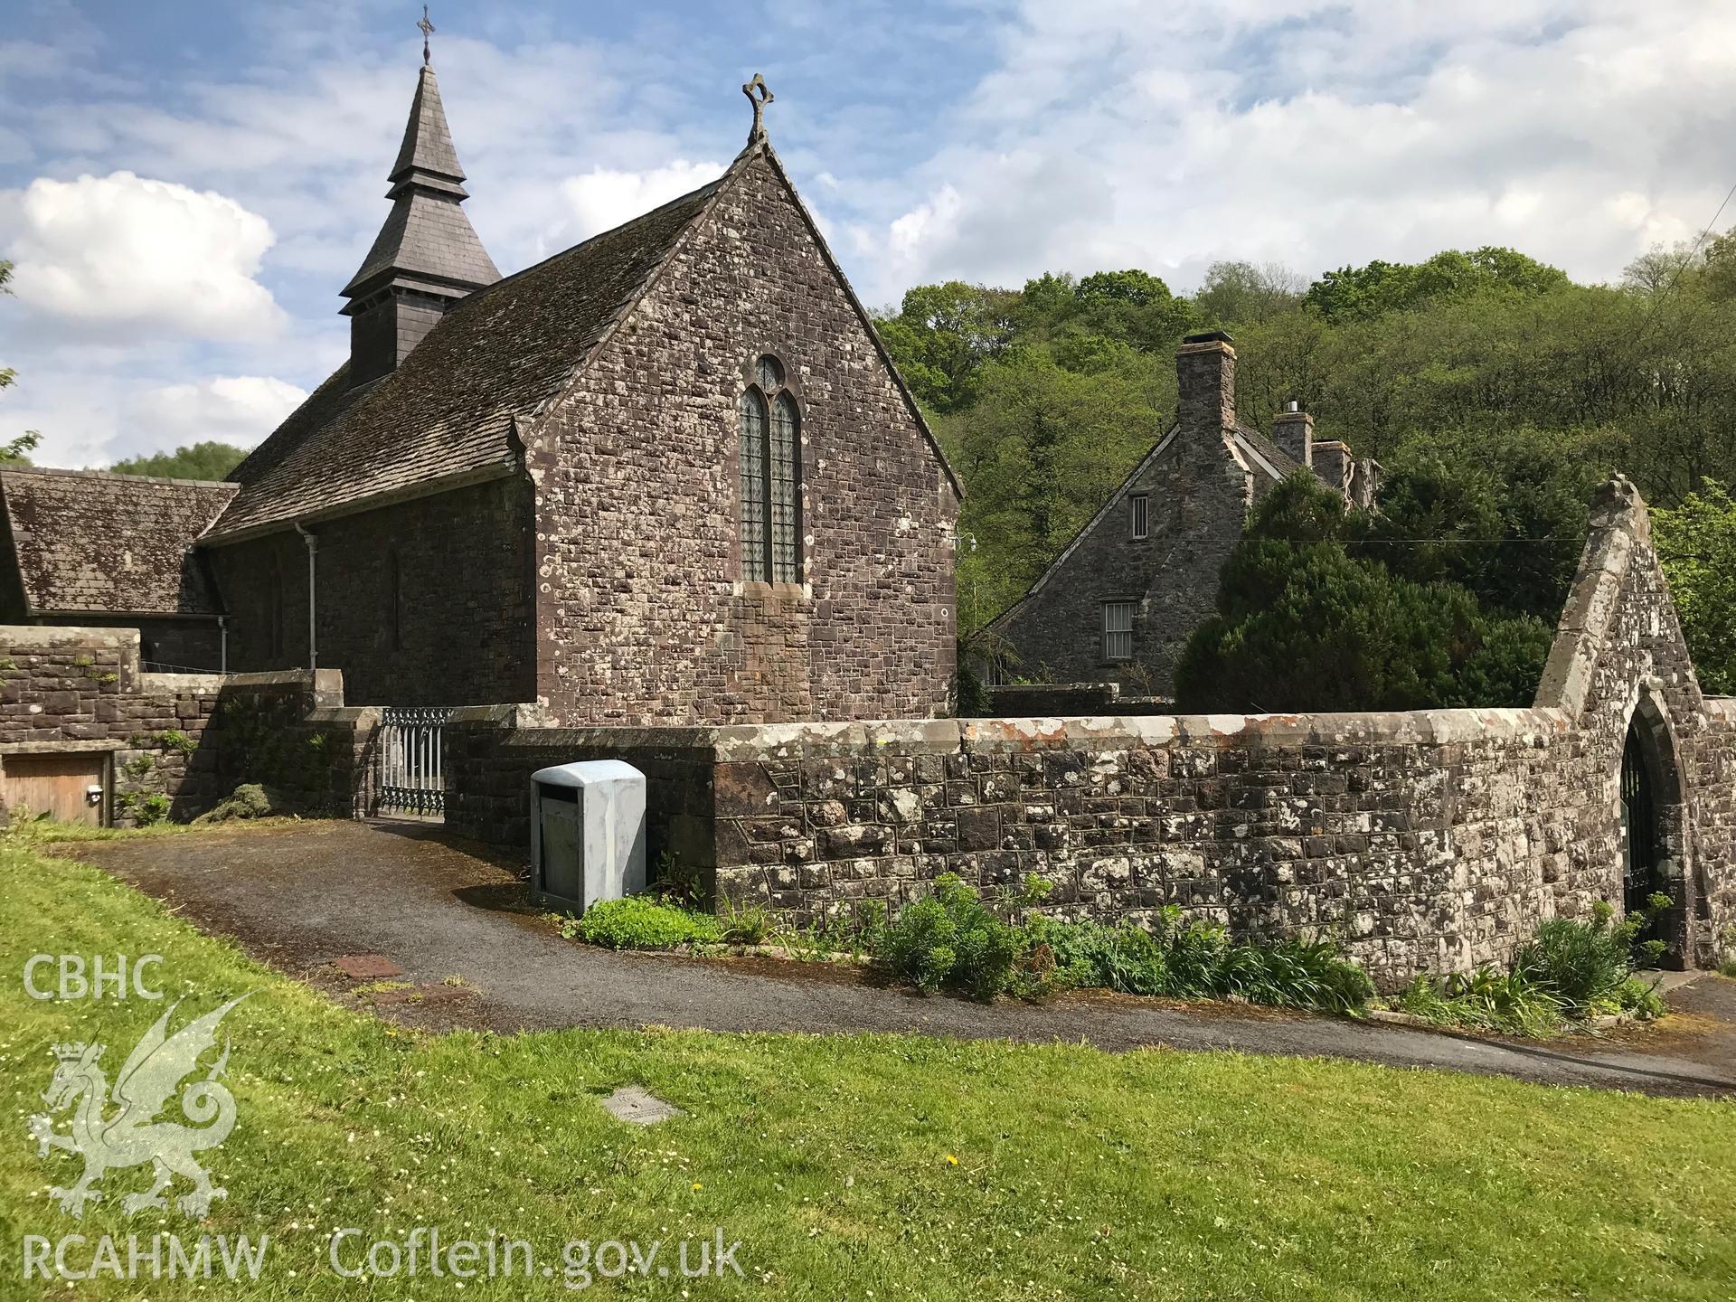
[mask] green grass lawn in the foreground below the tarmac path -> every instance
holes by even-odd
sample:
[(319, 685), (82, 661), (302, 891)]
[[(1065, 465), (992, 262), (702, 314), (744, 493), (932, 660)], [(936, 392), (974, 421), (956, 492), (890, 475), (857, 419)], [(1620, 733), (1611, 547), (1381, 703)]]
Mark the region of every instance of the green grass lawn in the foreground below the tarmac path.
[[(359, 868), (361, 870), (361, 868)], [(418, 1035), (339, 1007), (101, 871), (0, 847), (0, 1297), (200, 1295), (168, 1279), (23, 1279), (28, 1234), (196, 1231), (82, 1220), (38, 1160), (62, 1040), (113, 1073), (163, 1003), (35, 1002), (33, 953), (161, 953), (181, 1016), (226, 1028), (240, 1121), (205, 1156), (212, 1234), (269, 1236), (257, 1283), (205, 1297), (559, 1297), (568, 1240), (740, 1240), (745, 1278), (595, 1279), (620, 1297), (1663, 1299), (1736, 1295), (1736, 1109), (1338, 1062), (908, 1036)], [(203, 1075), (203, 1073), (201, 1073)], [(651, 1128), (599, 1095), (686, 1109)], [(179, 1193), (179, 1189), (175, 1191)], [(344, 1279), (333, 1227), (498, 1231), (552, 1278)], [(351, 1253), (354, 1259), (358, 1253)], [(125, 1245), (122, 1246), (125, 1259)], [(71, 1253), (83, 1267), (89, 1253)], [(611, 1259), (613, 1260), (613, 1259)], [(345, 1264), (351, 1264), (349, 1260)], [(595, 1278), (595, 1276), (594, 1276)], [(686, 1290), (686, 1293), (682, 1292)]]

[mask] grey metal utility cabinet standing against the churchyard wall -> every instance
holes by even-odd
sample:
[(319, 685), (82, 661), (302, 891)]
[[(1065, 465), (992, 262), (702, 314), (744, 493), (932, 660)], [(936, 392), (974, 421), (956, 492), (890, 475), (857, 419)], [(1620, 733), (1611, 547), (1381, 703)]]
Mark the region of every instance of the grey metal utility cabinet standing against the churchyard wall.
[(531, 898), (583, 913), (646, 887), (646, 776), (623, 760), (531, 774)]

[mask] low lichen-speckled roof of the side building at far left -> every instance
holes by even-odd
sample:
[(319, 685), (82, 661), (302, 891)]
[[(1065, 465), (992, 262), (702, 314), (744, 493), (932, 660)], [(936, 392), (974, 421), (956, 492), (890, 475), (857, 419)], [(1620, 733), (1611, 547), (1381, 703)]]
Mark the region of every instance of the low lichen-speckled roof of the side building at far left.
[(219, 613), (193, 540), (234, 484), (99, 470), (0, 470), (28, 615)]

